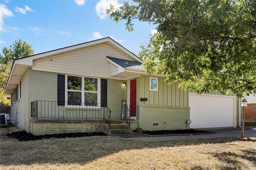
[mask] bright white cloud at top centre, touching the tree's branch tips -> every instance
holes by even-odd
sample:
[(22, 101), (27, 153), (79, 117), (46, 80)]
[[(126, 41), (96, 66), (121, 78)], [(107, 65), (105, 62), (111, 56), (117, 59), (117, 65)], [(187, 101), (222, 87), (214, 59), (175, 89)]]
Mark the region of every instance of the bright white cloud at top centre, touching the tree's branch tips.
[(113, 5), (115, 8), (119, 8), (123, 4), (119, 4), (118, 0), (100, 0), (95, 6), (96, 12), (101, 20), (106, 19), (107, 9), (110, 9), (110, 4)]

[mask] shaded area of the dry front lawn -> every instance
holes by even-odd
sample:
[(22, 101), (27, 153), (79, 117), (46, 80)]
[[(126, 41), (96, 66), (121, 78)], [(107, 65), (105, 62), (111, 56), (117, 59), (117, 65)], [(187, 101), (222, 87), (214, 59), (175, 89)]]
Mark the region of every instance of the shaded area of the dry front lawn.
[[(4, 138), (5, 136), (1, 136)], [(6, 138), (6, 137), (5, 137)], [(90, 136), (78, 138), (50, 138), (34, 141), (8, 139), (1, 142), (0, 165), (31, 164), (80, 164), (84, 165), (98, 158), (109, 156), (124, 150), (145, 148), (177, 147), (200, 144), (218, 144), (234, 142), (237, 138), (217, 138), (200, 140), (176, 140), (165, 142), (138, 142), (112, 136)], [(255, 155), (255, 150), (251, 151)], [(227, 155), (222, 153), (225, 161)], [(253, 157), (251, 158), (253, 159)], [(230, 160), (232, 161), (232, 160)], [(255, 161), (255, 160), (254, 160)], [(199, 167), (198, 167), (199, 168)]]

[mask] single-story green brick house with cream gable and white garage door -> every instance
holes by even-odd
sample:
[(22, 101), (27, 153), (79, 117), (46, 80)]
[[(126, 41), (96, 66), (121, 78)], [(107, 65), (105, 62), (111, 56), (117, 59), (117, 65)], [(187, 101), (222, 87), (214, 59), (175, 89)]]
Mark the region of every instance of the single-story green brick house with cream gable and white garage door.
[(142, 63), (109, 37), (16, 59), (5, 89), (11, 122), (35, 135), (101, 132), (120, 122), (132, 130), (239, 124), (234, 95), (183, 91)]

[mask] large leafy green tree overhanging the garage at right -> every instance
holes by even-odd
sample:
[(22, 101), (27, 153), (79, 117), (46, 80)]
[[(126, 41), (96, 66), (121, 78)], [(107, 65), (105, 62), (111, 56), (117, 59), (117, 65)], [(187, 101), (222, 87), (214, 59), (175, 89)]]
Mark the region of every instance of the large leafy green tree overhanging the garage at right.
[(256, 1), (133, 1), (107, 13), (129, 31), (134, 19), (157, 26), (139, 54), (147, 73), (197, 93), (256, 92)]

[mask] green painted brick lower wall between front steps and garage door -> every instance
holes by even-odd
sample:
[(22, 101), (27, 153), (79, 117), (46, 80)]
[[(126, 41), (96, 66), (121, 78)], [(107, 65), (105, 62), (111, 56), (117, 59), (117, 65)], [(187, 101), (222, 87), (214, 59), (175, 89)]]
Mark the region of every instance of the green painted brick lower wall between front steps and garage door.
[(140, 105), (140, 123), (143, 130), (189, 129), (190, 107)]

